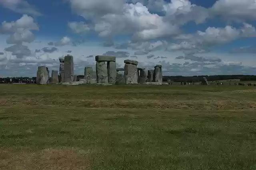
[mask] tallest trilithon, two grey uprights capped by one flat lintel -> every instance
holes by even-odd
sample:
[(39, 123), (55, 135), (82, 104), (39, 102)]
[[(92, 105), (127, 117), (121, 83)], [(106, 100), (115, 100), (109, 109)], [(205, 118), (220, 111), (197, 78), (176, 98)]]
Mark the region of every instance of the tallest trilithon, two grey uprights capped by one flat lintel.
[(116, 57), (97, 55), (96, 80), (97, 83), (116, 83)]

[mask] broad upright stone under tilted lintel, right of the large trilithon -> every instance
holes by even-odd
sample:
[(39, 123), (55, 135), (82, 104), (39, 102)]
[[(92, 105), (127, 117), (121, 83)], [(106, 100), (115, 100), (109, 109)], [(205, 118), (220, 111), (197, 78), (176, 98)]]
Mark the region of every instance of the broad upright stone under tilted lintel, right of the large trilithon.
[(124, 65), (125, 84), (138, 84), (138, 68), (134, 64)]

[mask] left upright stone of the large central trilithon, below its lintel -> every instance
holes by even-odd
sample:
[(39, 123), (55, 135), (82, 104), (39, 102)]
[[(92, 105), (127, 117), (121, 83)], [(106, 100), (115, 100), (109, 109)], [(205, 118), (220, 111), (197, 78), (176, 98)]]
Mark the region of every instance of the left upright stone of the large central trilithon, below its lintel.
[(96, 62), (96, 76), (97, 83), (108, 83), (108, 69), (104, 61)]

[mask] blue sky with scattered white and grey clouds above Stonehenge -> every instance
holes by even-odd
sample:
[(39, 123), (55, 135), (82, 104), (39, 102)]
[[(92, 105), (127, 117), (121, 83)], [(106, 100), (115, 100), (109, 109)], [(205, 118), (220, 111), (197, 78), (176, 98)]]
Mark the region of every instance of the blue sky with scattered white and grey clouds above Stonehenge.
[(256, 75), (256, 0), (0, 0), (0, 77), (116, 56), (163, 75)]

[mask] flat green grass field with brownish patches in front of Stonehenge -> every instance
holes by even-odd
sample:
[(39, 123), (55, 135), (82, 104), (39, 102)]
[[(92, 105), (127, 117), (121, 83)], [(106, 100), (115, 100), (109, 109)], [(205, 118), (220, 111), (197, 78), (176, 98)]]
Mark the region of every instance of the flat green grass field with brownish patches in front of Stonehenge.
[(256, 88), (0, 85), (0, 169), (256, 169)]

